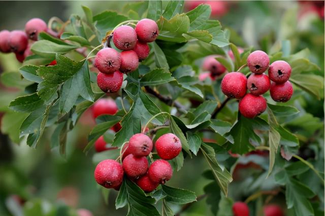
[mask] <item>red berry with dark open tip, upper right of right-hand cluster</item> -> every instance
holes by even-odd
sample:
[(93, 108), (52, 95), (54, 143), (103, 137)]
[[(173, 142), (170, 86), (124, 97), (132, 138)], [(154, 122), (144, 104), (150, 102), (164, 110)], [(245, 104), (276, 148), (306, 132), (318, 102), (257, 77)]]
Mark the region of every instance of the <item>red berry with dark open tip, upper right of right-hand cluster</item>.
[(285, 83), (291, 76), (291, 66), (286, 61), (275, 61), (269, 67), (270, 80), (277, 84)]

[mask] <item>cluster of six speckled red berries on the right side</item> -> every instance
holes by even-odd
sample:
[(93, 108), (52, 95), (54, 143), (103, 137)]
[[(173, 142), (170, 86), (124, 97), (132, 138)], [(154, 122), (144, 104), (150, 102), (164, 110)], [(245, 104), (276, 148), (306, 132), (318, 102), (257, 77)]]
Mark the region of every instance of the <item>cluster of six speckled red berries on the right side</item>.
[[(247, 58), (247, 65), (252, 71), (248, 79), (239, 72), (226, 74), (222, 79), (222, 92), (228, 97), (241, 99), (239, 111), (246, 118), (254, 118), (266, 110), (267, 103), (262, 94), (268, 90), (277, 102), (286, 102), (293, 95), (293, 86), (288, 81), (291, 75), (290, 65), (282, 60), (271, 65), (269, 63), (269, 56), (265, 52), (254, 51)], [(268, 68), (269, 76), (264, 74)], [(247, 89), (250, 91), (248, 94)]]

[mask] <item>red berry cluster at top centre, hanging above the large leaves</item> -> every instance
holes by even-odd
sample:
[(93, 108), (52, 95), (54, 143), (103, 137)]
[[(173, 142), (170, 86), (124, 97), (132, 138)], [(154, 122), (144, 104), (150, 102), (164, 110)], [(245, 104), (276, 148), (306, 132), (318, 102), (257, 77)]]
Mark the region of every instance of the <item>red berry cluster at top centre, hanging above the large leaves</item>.
[(108, 47), (96, 54), (94, 65), (100, 70), (97, 83), (102, 91), (116, 92), (121, 88), (122, 73), (136, 70), (139, 61), (148, 57), (147, 43), (155, 41), (158, 33), (158, 26), (151, 19), (140, 20), (135, 28), (121, 25), (113, 31), (113, 43), (123, 51), (119, 53)]

